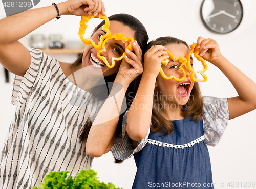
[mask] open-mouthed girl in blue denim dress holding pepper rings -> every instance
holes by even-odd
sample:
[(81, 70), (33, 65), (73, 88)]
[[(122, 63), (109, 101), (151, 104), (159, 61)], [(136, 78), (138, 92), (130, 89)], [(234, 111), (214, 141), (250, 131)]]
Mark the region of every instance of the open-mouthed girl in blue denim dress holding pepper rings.
[(226, 75), (239, 96), (202, 97), (199, 84), (190, 81), (185, 66), (183, 81), (164, 79), (159, 70), (166, 58), (169, 63), (162, 66), (164, 73), (183, 76), (180, 63), (170, 60), (166, 50), (175, 57), (185, 57), (189, 46), (173, 37), (151, 41), (136, 98), (123, 118), (127, 135), (121, 148), (112, 148), (117, 159), (134, 154), (138, 170), (133, 188), (214, 188), (207, 145), (219, 142), (229, 119), (256, 108), (252, 95), (256, 84), (222, 56), (217, 42), (199, 37), (197, 45), (199, 55)]

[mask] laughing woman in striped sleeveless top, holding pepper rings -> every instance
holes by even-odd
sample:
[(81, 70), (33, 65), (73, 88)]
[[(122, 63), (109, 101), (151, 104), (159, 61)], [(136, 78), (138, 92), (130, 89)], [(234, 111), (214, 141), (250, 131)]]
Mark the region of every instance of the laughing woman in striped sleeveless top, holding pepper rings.
[[(69, 0), (57, 4), (57, 8), (60, 15), (82, 16), (93, 13), (97, 16), (105, 11), (103, 3), (96, 0)], [(120, 83), (125, 93), (127, 86), (143, 70), (141, 56), (148, 36), (140, 22), (133, 24), (129, 19), (123, 20), (124, 17), (135, 19), (130, 15), (116, 15), (113, 20), (110, 17), (109, 29), (112, 34), (123, 33), (138, 42), (132, 45), (134, 53), (126, 51), (127, 57), (116, 62), (114, 68), (105, 65), (98, 67), (102, 62), (96, 61), (97, 51), (92, 45), (86, 46), (83, 55), (70, 65), (58, 62), (40, 50), (25, 48), (18, 41), (57, 15), (56, 8), (52, 5), (0, 20), (0, 25), (4, 28), (0, 32), (0, 62), (15, 74), (12, 103), (16, 105), (15, 116), (2, 152), (0, 185), (3, 188), (38, 186), (51, 170), (69, 170), (70, 175), (75, 176), (79, 170), (91, 168), (93, 157), (89, 154), (93, 154), (90, 153), (90, 145), (85, 144), (89, 133), (87, 126), (91, 125), (91, 115), (97, 114), (103, 104), (102, 98), (94, 95), (98, 83), (91, 85), (91, 81), (99, 74), (96, 78), (100, 82), (103, 75), (106, 82), (114, 82), (114, 86)], [(91, 36), (95, 42), (104, 35), (102, 25), (103, 23)], [(127, 44), (122, 41), (112, 39), (106, 43), (106, 52), (101, 55), (111, 62), (112, 56), (118, 57), (124, 52), (125, 45)], [(81, 75), (81, 70), (87, 74)], [(91, 70), (97, 71), (90, 72)], [(96, 93), (99, 92), (96, 90)], [(108, 113), (112, 114), (111, 110)], [(97, 133), (102, 140), (96, 138), (94, 143), (104, 149), (102, 154), (108, 152), (114, 143), (117, 125), (116, 119), (114, 121), (111, 129), (101, 128), (101, 131), (108, 131)], [(92, 135), (95, 131), (97, 129), (92, 129)], [(100, 137), (101, 135), (103, 136)], [(106, 140), (109, 142), (105, 144)], [(92, 143), (93, 139), (89, 137), (88, 141)], [(85, 149), (89, 149), (89, 154)]]

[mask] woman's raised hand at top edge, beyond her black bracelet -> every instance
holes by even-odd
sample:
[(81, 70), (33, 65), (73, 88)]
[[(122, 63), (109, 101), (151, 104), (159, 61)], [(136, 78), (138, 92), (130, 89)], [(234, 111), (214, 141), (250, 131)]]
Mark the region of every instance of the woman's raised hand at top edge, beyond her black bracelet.
[(89, 16), (92, 13), (96, 17), (99, 13), (105, 15), (105, 7), (101, 0), (68, 0), (59, 5), (60, 15)]

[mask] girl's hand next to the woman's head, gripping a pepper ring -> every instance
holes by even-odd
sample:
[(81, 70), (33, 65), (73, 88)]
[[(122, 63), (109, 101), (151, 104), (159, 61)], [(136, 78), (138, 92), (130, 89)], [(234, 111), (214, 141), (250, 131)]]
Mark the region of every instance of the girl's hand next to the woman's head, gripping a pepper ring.
[(167, 48), (162, 45), (151, 46), (151, 48), (145, 53), (144, 58), (144, 72), (145, 74), (153, 74), (158, 76), (160, 72), (161, 62), (169, 58), (166, 52)]

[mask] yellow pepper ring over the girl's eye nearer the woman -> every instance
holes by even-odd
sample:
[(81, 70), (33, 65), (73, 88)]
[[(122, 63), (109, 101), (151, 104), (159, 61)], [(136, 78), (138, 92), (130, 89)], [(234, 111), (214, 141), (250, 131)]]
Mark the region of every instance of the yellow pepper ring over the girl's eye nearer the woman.
[[(175, 76), (169, 76), (169, 77), (168, 77), (168, 76), (166, 76), (165, 73), (163, 72), (162, 67), (160, 67), (160, 74), (161, 74), (161, 76), (162, 76), (164, 79), (174, 79), (175, 81), (183, 81), (183, 80), (186, 78), (186, 76), (187, 76), (185, 70), (183, 69), (183, 65), (186, 64), (187, 59), (184, 58), (184, 57), (177, 57), (177, 58), (175, 58), (175, 56), (174, 56), (170, 51), (167, 50), (166, 52), (168, 53), (168, 55), (169, 55), (169, 57), (170, 57), (171, 60), (173, 60), (174, 62), (178, 61), (178, 62), (181, 63), (179, 69), (181, 70), (181, 72), (183, 72), (183, 77), (182, 77), (182, 78), (176, 78)], [(161, 62), (161, 65), (165, 65), (165, 66), (166, 66), (168, 63), (169, 63), (168, 59), (165, 59), (165, 60), (163, 60), (163, 61)]]

